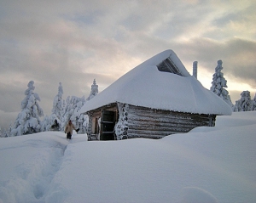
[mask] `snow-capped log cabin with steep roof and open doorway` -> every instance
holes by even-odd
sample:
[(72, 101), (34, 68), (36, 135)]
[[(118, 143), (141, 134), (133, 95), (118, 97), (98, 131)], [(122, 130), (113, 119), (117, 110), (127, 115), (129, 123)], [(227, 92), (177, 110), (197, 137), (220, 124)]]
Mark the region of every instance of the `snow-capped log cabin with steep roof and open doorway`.
[(190, 76), (177, 55), (166, 50), (138, 65), (86, 102), (88, 139), (163, 138), (212, 127), (231, 108)]

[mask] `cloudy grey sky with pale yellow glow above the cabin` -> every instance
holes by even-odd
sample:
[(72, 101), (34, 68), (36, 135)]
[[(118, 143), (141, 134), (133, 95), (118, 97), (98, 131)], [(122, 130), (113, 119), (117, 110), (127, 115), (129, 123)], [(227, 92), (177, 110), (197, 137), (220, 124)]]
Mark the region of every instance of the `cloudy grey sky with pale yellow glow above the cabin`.
[(20, 112), (29, 81), (49, 115), (64, 95), (87, 97), (144, 60), (172, 49), (211, 87), (217, 60), (232, 102), (255, 95), (255, 0), (2, 0), (0, 2), (0, 127)]

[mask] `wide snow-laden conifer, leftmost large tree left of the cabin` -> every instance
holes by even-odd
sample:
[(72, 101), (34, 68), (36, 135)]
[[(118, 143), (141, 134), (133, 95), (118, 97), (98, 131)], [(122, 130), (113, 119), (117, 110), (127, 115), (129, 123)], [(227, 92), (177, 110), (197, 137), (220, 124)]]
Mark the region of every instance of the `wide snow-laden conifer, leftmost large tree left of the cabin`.
[(44, 116), (44, 112), (38, 104), (40, 98), (38, 93), (34, 93), (34, 82), (28, 82), (25, 91), (25, 99), (21, 102), (21, 112), (15, 120), (11, 130), (11, 136), (38, 133), (41, 130), (39, 117)]

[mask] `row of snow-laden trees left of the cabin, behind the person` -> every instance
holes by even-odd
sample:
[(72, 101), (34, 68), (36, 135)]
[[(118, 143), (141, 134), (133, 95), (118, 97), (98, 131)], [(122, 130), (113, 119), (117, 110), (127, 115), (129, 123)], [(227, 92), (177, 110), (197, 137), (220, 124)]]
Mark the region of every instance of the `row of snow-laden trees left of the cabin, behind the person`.
[[(44, 116), (44, 111), (39, 106), (40, 97), (34, 93), (34, 82), (27, 84), (25, 99), (21, 101), (21, 112), (18, 114), (15, 123), (10, 124), (9, 129), (1, 133), (0, 136), (15, 137), (20, 135), (39, 133), (45, 131), (64, 131), (67, 121), (73, 121), (73, 124), (79, 128), (79, 133), (85, 133), (88, 123), (88, 116), (79, 114), (79, 110), (86, 101), (92, 99), (98, 93), (98, 85), (94, 79), (91, 85), (90, 95), (87, 99), (68, 96), (66, 100), (62, 99), (63, 87), (59, 83), (58, 93), (56, 94), (50, 116)], [(40, 117), (44, 117), (41, 121)]]

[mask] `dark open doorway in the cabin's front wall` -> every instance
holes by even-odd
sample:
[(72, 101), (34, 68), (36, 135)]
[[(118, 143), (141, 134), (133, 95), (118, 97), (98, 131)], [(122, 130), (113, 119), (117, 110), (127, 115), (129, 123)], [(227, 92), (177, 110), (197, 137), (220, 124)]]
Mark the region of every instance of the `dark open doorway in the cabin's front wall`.
[(114, 140), (115, 111), (102, 110), (100, 140)]

